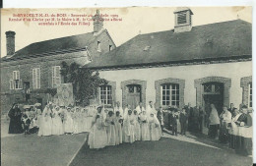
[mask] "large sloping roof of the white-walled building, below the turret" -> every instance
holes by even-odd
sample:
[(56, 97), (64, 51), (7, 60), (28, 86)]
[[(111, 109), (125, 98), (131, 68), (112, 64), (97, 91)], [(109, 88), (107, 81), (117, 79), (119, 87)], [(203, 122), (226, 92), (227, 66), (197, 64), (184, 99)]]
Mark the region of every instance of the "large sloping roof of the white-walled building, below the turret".
[(252, 56), (252, 26), (235, 20), (180, 33), (172, 29), (139, 34), (84, 67), (122, 68), (243, 56)]

